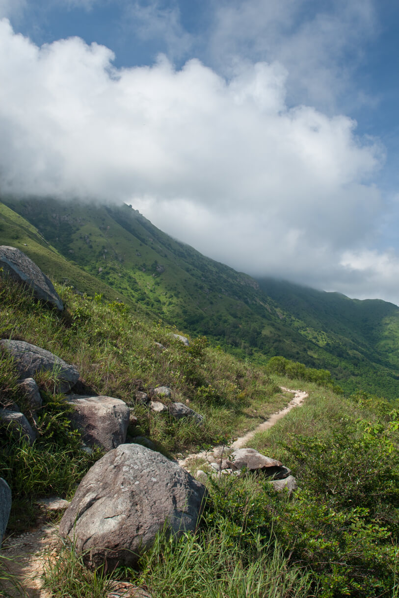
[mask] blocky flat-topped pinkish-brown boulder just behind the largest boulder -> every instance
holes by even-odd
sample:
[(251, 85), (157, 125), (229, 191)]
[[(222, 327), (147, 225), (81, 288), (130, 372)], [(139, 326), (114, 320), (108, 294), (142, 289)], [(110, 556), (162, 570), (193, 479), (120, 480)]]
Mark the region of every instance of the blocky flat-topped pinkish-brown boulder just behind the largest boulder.
[(72, 423), (81, 431), (85, 443), (97, 444), (105, 450), (125, 443), (130, 409), (121, 399), (68, 395), (68, 403), (75, 410)]

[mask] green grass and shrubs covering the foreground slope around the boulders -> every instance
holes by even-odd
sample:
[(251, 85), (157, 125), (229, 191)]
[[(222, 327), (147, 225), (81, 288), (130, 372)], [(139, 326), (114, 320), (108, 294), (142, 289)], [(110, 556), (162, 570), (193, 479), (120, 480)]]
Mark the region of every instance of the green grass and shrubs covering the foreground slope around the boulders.
[[(153, 598), (399, 596), (397, 405), (365, 392), (337, 395), (328, 372), (284, 358), (269, 367), (283, 367), (279, 378), (208, 346), (204, 337), (185, 347), (171, 336), (173, 329), (123, 303), (57, 288), (64, 314), (0, 278), (0, 336), (74, 362), (86, 388), (132, 405), (138, 425), (129, 429), (131, 440), (144, 434), (164, 453), (176, 454), (255, 426), (286, 401), (276, 393), (279, 384), (304, 388), (310, 398), (251, 442), (292, 469), (300, 487), (293, 496), (277, 494), (261, 476), (210, 477), (210, 498), (194, 535), (176, 541), (161, 533), (138, 570), (113, 573), (88, 571), (65, 545), (46, 573), (53, 596), (104, 598), (117, 576), (147, 588)], [(12, 360), (2, 355), (0, 364), (2, 405), (21, 403)], [(101, 454), (81, 450), (64, 396), (54, 393), (54, 377), (43, 375), (38, 383), (44, 407), (34, 446), (1, 430), (0, 466), (14, 496), (9, 531), (34, 521), (39, 495), (71, 496)], [(176, 422), (136, 404), (136, 390), (159, 384), (171, 386), (174, 399), (188, 399), (205, 415), (205, 425)]]

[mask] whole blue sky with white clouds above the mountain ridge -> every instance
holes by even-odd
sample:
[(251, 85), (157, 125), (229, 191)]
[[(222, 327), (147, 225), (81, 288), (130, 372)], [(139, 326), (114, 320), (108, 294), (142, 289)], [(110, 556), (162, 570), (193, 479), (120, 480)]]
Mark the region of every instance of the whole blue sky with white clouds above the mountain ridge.
[(0, 0), (0, 194), (399, 304), (396, 0)]

